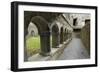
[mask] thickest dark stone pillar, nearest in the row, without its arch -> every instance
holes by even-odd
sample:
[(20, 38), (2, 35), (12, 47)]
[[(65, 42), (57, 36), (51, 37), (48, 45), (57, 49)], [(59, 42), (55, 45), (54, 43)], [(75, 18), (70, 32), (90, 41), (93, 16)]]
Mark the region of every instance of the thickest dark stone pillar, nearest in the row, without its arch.
[(41, 43), (41, 52), (42, 56), (50, 55), (50, 32), (40, 33), (40, 43)]

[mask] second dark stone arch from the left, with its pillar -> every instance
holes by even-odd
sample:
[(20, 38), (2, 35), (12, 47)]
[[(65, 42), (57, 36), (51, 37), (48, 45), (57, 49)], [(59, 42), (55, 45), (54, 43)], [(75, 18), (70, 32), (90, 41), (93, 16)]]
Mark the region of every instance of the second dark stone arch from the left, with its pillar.
[(59, 36), (59, 27), (57, 24), (52, 26), (52, 47), (59, 47), (60, 36)]

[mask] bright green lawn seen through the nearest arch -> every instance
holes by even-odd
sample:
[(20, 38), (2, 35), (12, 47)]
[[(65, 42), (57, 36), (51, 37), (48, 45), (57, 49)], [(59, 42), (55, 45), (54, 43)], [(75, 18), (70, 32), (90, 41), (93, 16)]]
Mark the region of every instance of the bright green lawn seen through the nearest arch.
[(29, 37), (26, 40), (27, 53), (32, 56), (39, 53), (40, 50), (40, 36)]

